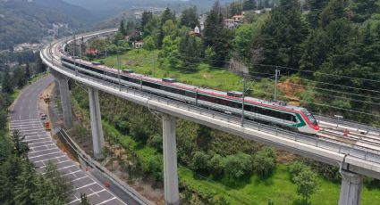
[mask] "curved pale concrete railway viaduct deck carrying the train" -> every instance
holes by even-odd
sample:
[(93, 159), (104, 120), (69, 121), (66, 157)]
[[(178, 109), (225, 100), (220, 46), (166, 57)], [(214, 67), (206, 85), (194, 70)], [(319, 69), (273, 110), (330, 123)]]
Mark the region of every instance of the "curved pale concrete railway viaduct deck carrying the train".
[[(81, 37), (97, 37), (104, 34), (108, 35), (114, 32), (114, 30), (83, 34), (80, 37), (77, 36), (77, 39)], [(347, 143), (338, 140), (339, 137), (323, 138), (303, 135), (276, 127), (269, 127), (253, 121), (246, 121), (244, 127), (241, 127), (240, 118), (118, 85), (118, 79), (116, 78), (109, 78), (108, 81), (106, 81), (103, 76), (97, 77), (98, 74), (96, 73), (85, 75), (67, 69), (63, 67), (60, 60), (60, 57), (63, 55), (61, 50), (66, 44), (67, 42), (64, 39), (55, 41), (52, 45), (46, 46), (46, 48), (42, 50), (41, 57), (44, 63), (52, 70), (66, 77), (75, 79), (85, 86), (93, 87), (108, 94), (114, 94), (128, 101), (147, 106), (151, 111), (159, 111), (178, 118), (188, 119), (208, 127), (229, 132), (233, 135), (241, 135), (242, 137), (260, 143), (274, 145), (280, 149), (329, 163), (348, 171), (380, 178), (380, 148), (376, 147), (376, 145)], [(326, 123), (328, 124), (330, 122)], [(332, 127), (334, 127), (334, 125), (331, 125), (330, 128)], [(353, 132), (352, 135), (356, 134), (354, 130), (358, 128), (351, 128)], [(361, 134), (363, 133), (358, 133), (358, 135)], [(363, 136), (361, 136), (361, 138), (363, 138)]]

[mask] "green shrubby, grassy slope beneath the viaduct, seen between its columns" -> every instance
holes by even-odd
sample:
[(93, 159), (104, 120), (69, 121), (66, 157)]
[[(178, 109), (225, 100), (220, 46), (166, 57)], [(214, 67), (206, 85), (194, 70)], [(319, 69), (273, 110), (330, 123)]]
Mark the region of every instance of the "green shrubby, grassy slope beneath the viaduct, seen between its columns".
[[(80, 120), (89, 120), (87, 94), (73, 87)], [(122, 161), (122, 172), (131, 174), (127, 181), (150, 178), (154, 187), (162, 188), (160, 119), (112, 95), (99, 97), (110, 144), (105, 157)], [(126, 157), (113, 152), (119, 146)], [(184, 204), (336, 204), (339, 199), (341, 178), (336, 168), (299, 157), (285, 163), (279, 161), (283, 152), (182, 119), (177, 119), (177, 152)], [(362, 204), (378, 200), (376, 187), (376, 180), (366, 178)]]

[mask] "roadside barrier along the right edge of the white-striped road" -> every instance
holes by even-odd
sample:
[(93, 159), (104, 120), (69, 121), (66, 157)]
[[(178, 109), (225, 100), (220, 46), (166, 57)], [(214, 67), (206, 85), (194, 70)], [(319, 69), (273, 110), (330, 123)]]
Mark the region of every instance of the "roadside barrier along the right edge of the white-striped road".
[(106, 178), (108, 178), (119, 188), (121, 188), (124, 193), (129, 193), (129, 195), (134, 201), (138, 202), (141, 205), (153, 205), (152, 202), (145, 199), (128, 184), (120, 183), (119, 180), (115, 179), (114, 176), (112, 176), (112, 174), (106, 168), (101, 166), (97, 161), (92, 160), (86, 152), (80, 149), (77, 143), (72, 142), (72, 138), (70, 137), (70, 135), (66, 133), (66, 131), (60, 129), (57, 134), (60, 134), (63, 137), (65, 143), (72, 148), (72, 150), (77, 154), (77, 157), (80, 158), (80, 160), (83, 160), (90, 168), (96, 168), (97, 171), (103, 174), (103, 176), (106, 176)]

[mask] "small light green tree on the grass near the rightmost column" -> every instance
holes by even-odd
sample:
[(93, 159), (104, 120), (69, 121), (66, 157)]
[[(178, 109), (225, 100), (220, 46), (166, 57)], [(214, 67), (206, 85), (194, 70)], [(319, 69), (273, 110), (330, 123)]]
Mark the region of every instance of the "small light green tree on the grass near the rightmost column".
[(297, 185), (297, 193), (305, 201), (308, 201), (318, 190), (317, 175), (310, 168), (301, 169), (300, 173), (294, 176), (293, 181)]

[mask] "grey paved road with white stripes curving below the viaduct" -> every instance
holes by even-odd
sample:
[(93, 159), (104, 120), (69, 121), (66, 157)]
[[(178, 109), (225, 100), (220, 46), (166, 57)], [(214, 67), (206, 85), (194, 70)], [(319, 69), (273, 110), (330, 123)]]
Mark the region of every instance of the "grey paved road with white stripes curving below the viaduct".
[(11, 130), (18, 129), (26, 135), (25, 141), (30, 146), (29, 158), (35, 163), (39, 173), (44, 172), (47, 161), (52, 161), (63, 176), (69, 178), (74, 191), (69, 204), (79, 204), (80, 193), (86, 193), (91, 204), (125, 204), (92, 176), (81, 170), (46, 133), (42, 122), (38, 119), (38, 101), (39, 94), (53, 81), (54, 78), (49, 76), (22, 92), (14, 105)]

